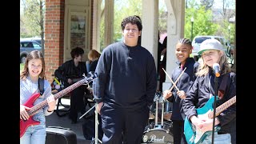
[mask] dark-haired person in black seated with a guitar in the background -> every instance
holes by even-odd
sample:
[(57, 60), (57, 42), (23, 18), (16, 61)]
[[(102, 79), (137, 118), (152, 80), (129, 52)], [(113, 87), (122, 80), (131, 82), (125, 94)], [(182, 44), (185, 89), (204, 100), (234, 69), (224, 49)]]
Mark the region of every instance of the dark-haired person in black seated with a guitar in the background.
[[(64, 82), (64, 88), (84, 78), (83, 74), (87, 75), (86, 64), (82, 62), (84, 50), (81, 47), (76, 47), (71, 50), (70, 54), (72, 59), (64, 62), (54, 72), (55, 76)], [(88, 93), (88, 90), (83, 85), (71, 91), (69, 113), (71, 123), (77, 123), (78, 112), (82, 114), (85, 112), (86, 103), (83, 100), (85, 93)]]

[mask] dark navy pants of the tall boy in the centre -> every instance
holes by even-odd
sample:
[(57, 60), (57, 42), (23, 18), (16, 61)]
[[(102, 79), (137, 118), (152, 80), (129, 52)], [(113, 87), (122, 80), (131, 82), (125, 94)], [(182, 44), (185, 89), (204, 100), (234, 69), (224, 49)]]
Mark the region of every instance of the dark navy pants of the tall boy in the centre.
[(102, 144), (140, 144), (149, 118), (149, 108), (144, 106), (127, 110), (104, 104), (101, 118)]

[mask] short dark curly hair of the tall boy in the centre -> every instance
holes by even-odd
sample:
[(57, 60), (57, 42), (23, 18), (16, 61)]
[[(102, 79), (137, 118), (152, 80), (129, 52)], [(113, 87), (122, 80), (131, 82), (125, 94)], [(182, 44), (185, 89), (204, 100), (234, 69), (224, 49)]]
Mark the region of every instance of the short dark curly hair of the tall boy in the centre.
[(138, 26), (138, 31), (142, 30), (142, 20), (137, 15), (133, 15), (133, 16), (123, 18), (122, 22), (121, 22), (122, 30), (125, 30), (125, 27), (126, 27), (127, 23), (131, 23), (133, 25), (136, 24)]

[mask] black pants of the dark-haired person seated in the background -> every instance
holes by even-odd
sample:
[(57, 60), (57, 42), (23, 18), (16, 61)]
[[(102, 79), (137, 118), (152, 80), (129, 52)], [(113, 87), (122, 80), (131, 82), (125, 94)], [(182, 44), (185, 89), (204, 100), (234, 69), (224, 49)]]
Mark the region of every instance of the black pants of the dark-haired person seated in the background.
[(72, 122), (77, 122), (78, 112), (85, 112), (84, 102), (85, 89), (84, 86), (79, 86), (71, 92), (70, 97), (70, 119)]

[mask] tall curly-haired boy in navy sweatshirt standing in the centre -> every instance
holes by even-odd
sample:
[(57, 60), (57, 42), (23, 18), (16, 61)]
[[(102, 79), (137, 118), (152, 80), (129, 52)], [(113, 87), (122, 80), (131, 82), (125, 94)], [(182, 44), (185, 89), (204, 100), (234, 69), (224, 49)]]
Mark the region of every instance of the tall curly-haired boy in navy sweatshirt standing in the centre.
[(106, 46), (98, 60), (93, 93), (102, 143), (140, 144), (156, 92), (156, 67), (153, 55), (138, 44), (142, 21), (129, 16), (121, 28), (123, 41)]

